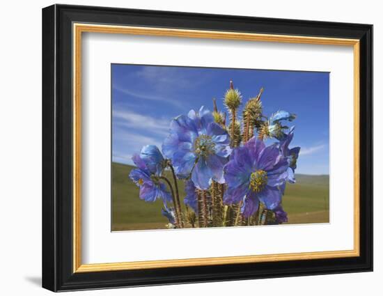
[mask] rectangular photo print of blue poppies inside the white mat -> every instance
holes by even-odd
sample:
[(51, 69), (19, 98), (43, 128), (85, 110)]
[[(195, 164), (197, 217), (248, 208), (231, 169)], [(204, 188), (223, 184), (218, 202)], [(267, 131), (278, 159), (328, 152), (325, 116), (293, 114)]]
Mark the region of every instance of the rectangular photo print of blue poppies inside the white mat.
[(111, 65), (111, 231), (329, 223), (329, 72)]

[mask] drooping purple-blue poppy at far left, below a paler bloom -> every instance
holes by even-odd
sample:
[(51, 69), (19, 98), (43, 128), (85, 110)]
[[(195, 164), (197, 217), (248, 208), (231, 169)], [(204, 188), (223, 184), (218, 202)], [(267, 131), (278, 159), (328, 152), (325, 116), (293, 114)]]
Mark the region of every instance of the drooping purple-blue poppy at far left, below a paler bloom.
[[(164, 183), (158, 178), (160, 173), (153, 173), (147, 163), (139, 155), (133, 155), (132, 160), (137, 169), (130, 171), (129, 177), (139, 187), (139, 197), (144, 201), (156, 201), (161, 198), (164, 202), (172, 201), (171, 194), (166, 190)], [(153, 169), (153, 168), (152, 168)]]

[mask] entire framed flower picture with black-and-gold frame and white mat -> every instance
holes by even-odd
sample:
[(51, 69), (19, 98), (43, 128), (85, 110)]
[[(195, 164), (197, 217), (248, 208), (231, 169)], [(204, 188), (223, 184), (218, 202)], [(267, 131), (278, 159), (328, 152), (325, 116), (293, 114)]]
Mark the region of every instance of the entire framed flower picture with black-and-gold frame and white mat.
[(373, 26), (42, 10), (42, 286), (373, 270)]

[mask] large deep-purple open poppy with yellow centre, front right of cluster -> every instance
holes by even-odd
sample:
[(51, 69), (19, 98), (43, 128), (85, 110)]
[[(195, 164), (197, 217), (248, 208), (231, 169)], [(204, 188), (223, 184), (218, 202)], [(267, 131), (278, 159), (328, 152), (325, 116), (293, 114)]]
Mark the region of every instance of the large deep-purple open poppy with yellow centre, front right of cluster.
[(266, 147), (263, 141), (251, 138), (233, 150), (224, 167), (228, 185), (224, 203), (244, 201), (244, 217), (253, 215), (260, 201), (267, 209), (274, 210), (281, 203), (279, 186), (288, 178), (288, 165), (288, 159), (276, 144)]

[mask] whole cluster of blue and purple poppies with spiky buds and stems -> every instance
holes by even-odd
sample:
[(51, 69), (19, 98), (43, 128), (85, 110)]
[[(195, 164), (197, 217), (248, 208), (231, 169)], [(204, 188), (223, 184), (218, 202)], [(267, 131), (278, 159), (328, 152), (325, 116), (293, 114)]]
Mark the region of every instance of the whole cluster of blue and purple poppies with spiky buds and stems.
[[(162, 215), (169, 228), (281, 224), (288, 221), (282, 208), (286, 183), (295, 182), (299, 147), (289, 148), (295, 127), (283, 122), (295, 114), (276, 111), (265, 116), (260, 101), (263, 88), (242, 110), (242, 94), (225, 93), (226, 114), (205, 107), (171, 120), (162, 152), (144, 146), (132, 160), (130, 178), (144, 201), (164, 203)], [(267, 146), (265, 141), (274, 139)], [(184, 183), (181, 205), (179, 182)]]

